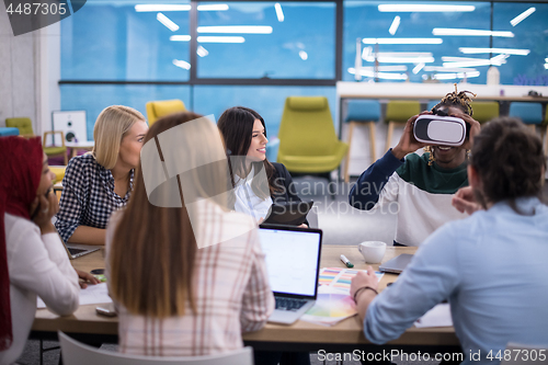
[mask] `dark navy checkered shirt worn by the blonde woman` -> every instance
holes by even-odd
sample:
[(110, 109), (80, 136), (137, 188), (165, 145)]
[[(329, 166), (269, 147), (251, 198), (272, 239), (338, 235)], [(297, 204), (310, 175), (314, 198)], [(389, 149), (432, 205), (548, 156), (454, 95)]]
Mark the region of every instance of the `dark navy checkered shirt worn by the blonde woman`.
[(127, 204), (133, 191), (134, 170), (129, 190), (124, 197), (114, 192), (114, 176), (98, 163), (92, 155), (70, 160), (62, 179), (62, 194), (55, 227), (67, 242), (78, 226), (106, 228), (113, 210)]

